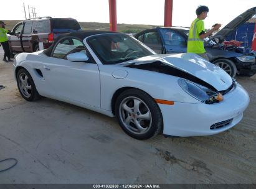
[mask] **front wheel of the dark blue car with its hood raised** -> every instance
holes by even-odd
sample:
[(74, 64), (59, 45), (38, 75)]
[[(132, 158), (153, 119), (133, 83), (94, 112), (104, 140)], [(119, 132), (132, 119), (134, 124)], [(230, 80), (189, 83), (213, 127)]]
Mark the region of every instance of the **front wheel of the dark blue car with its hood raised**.
[(232, 60), (220, 58), (213, 62), (218, 67), (222, 68), (225, 72), (227, 72), (232, 78), (237, 74), (237, 67)]

